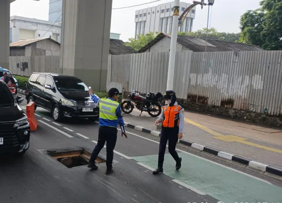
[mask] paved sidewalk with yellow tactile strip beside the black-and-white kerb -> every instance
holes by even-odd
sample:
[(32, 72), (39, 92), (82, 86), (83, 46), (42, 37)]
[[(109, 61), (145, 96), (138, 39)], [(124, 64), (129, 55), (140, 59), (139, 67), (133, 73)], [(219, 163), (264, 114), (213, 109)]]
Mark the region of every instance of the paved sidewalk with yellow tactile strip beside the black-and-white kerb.
[[(134, 109), (123, 116), (128, 123), (157, 130), (156, 118), (139, 114)], [(185, 112), (183, 140), (282, 168), (282, 130)]]

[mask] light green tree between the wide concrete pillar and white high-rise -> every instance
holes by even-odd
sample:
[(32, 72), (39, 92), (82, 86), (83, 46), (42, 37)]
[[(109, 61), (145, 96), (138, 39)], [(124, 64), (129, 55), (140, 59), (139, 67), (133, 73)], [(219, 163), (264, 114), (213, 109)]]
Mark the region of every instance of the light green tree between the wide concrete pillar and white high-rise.
[(126, 42), (125, 45), (126, 46), (130, 46), (135, 50), (140, 50), (142, 47), (144, 47), (145, 45), (147, 45), (149, 42), (151, 42), (152, 40), (155, 39), (155, 34), (157, 35), (157, 32), (150, 32), (150, 33), (146, 33), (145, 35), (137, 35), (136, 39), (134, 38), (130, 38), (128, 39), (129, 42)]

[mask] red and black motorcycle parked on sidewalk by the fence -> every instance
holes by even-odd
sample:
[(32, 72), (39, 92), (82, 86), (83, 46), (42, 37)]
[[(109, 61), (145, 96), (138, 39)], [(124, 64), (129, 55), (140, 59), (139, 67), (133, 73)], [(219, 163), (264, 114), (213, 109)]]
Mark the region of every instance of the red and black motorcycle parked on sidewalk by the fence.
[[(160, 92), (148, 93), (146, 97), (139, 95), (138, 91), (132, 90), (128, 95), (128, 100), (124, 100), (121, 108), (125, 114), (130, 114), (136, 107), (141, 114), (143, 111), (148, 112), (152, 117), (157, 117), (162, 113), (161, 101), (164, 95)], [(141, 114), (139, 116), (141, 116)]]

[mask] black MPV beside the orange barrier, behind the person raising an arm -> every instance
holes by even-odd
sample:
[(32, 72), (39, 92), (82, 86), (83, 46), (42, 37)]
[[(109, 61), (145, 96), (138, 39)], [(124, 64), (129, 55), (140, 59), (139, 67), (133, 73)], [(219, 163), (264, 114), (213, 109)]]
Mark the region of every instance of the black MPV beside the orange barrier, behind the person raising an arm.
[(51, 111), (55, 121), (65, 117), (99, 118), (99, 108), (89, 95), (89, 88), (74, 76), (33, 73), (26, 85), (27, 103)]

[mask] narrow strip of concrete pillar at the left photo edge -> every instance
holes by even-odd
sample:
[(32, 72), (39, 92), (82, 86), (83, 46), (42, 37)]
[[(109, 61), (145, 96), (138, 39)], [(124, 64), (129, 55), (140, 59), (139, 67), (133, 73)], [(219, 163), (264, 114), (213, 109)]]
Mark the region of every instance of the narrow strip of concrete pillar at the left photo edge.
[(10, 0), (0, 1), (0, 66), (9, 69)]

